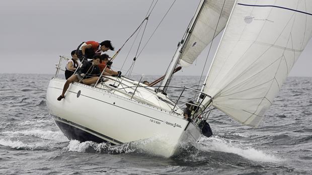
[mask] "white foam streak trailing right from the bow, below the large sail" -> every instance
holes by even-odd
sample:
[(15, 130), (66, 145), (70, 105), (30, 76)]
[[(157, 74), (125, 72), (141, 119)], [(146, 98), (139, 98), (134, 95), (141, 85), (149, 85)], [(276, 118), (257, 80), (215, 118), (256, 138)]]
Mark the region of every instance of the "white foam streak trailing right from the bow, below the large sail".
[[(199, 146), (199, 149), (203, 150), (214, 150), (228, 153), (235, 153), (242, 157), (245, 157), (254, 161), (264, 161), (264, 162), (277, 162), (282, 161), (282, 159), (263, 152), (262, 150), (256, 150), (253, 147), (240, 148), (238, 145), (231, 145), (216, 136), (210, 138), (203, 138), (206, 145)], [(207, 144), (208, 143), (208, 144)], [(243, 147), (243, 145), (241, 145)]]

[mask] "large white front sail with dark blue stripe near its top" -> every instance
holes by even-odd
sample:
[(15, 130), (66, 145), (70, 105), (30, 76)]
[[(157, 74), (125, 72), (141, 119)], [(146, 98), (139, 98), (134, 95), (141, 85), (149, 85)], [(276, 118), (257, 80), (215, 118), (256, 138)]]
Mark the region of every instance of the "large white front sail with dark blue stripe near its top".
[(258, 126), (312, 34), (312, 1), (238, 0), (204, 92), (233, 119)]

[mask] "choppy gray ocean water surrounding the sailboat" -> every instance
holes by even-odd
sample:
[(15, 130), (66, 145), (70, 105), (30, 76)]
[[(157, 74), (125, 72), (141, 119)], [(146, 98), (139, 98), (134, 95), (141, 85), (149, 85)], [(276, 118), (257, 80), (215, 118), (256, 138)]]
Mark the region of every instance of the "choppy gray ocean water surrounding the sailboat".
[[(212, 111), (208, 122), (214, 135), (194, 146), (182, 145), (171, 158), (127, 143), (68, 140), (46, 106), (51, 77), (0, 74), (0, 174), (312, 174), (311, 77), (287, 78), (258, 128)], [(197, 88), (198, 80), (177, 76), (172, 85)], [(171, 89), (169, 94), (180, 92)]]

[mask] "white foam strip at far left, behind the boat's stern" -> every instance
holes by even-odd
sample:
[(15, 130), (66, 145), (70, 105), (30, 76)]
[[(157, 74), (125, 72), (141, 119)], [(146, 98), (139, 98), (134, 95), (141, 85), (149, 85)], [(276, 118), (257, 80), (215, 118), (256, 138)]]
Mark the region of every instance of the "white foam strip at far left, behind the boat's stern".
[(65, 142), (68, 141), (68, 139), (64, 136), (64, 134), (60, 131), (50, 131), (50, 130), (39, 130), (39, 129), (34, 129), (34, 130), (23, 130), (23, 131), (6, 131), (2, 132), (2, 134), (6, 135), (26, 135), (26, 136), (34, 136), (42, 139), (47, 139), (47, 140), (54, 140), (58, 142)]

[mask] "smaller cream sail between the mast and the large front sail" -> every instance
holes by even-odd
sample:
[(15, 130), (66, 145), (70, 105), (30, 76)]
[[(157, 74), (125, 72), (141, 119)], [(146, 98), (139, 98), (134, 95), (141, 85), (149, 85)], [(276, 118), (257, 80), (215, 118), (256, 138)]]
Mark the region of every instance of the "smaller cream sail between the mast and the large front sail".
[[(183, 50), (180, 65), (191, 65), (198, 55), (207, 47), (225, 27), (235, 0), (204, 1), (189, 40)], [(221, 15), (220, 15), (221, 14)], [(196, 16), (196, 15), (195, 15)]]

